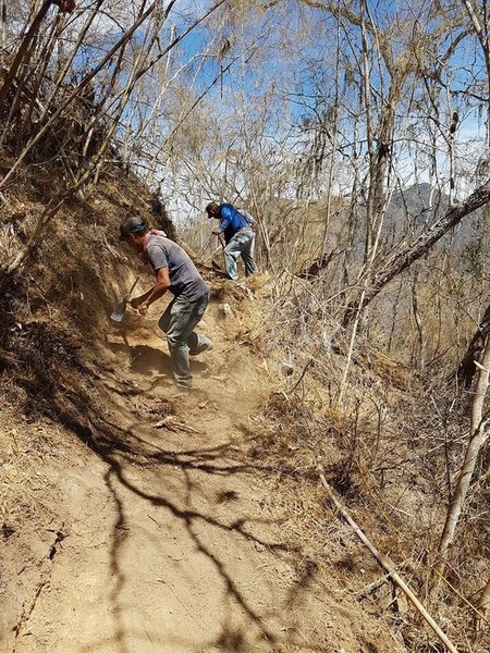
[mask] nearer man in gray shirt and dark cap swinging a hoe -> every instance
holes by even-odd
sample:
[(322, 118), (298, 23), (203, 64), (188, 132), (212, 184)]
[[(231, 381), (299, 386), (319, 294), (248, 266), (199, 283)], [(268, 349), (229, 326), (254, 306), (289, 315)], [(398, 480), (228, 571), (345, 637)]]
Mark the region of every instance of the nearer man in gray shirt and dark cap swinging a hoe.
[(149, 230), (137, 217), (126, 218), (120, 231), (120, 239), (139, 252), (144, 262), (150, 263), (157, 279), (152, 288), (131, 300), (131, 306), (144, 316), (167, 291), (173, 295), (158, 325), (167, 334), (176, 384), (191, 389), (188, 356), (212, 349), (212, 342), (194, 331), (208, 305), (209, 287), (187, 254), (163, 232)]

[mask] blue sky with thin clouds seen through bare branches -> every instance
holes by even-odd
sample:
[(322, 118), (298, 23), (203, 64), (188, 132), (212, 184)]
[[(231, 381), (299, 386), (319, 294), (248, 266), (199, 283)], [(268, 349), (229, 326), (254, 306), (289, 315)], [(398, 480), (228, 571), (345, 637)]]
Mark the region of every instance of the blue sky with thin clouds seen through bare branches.
[[(121, 29), (127, 28), (134, 20), (133, 12), (127, 11), (131, 7), (127, 0), (119, 2), (118, 0), (107, 0), (108, 10), (112, 11), (114, 7), (118, 14), (117, 22), (101, 14), (93, 27), (91, 33), (96, 42), (85, 49), (85, 61), (89, 65), (95, 65), (103, 56), (103, 51), (121, 36)], [(162, 45), (164, 46), (169, 41), (172, 29), (175, 29), (177, 34), (181, 33), (209, 7), (208, 0), (177, 0), (163, 29)], [(193, 121), (200, 113), (212, 112), (224, 126), (233, 121), (242, 120), (244, 111), (250, 121), (256, 118), (260, 119), (260, 113), (264, 111), (262, 98), (265, 94), (268, 94), (267, 110), (270, 113), (270, 121), (265, 127), (265, 138), (282, 139), (284, 156), (293, 156), (298, 151), (301, 143), (307, 144), (313, 134), (313, 132), (302, 131), (302, 116), (315, 118), (318, 115), (318, 111), (315, 112), (316, 109), (324, 111), (333, 100), (338, 22), (323, 11), (308, 9), (301, 2), (291, 0), (284, 0), (264, 13), (259, 13), (249, 5), (245, 7), (243, 21), (238, 12), (226, 13), (225, 8), (222, 8), (183, 39), (172, 53), (170, 73), (175, 75), (175, 81), (169, 89), (167, 101), (171, 106), (177, 99), (176, 94), (187, 91), (187, 103), (182, 98), (179, 99), (182, 102), (182, 112), (185, 114), (186, 108), (188, 109), (208, 88), (216, 75), (219, 74), (220, 67), (232, 63), (232, 67), (223, 75), (222, 81), (207, 90), (206, 97), (187, 120)], [(426, 7), (430, 7), (430, 3), (427, 3)], [(373, 20), (379, 21), (381, 25), (392, 21), (395, 11), (400, 9), (403, 9), (402, 17), (411, 17), (413, 12), (412, 5), (405, 2), (389, 4), (371, 1), (369, 9)], [(426, 20), (424, 26), (433, 27), (433, 20), (432, 22)], [(409, 36), (400, 29), (396, 37), (399, 44), (395, 45), (394, 50), (405, 48)], [(222, 57), (219, 58), (218, 54), (225, 45), (225, 38), (230, 40), (231, 48), (226, 52), (223, 51)], [(359, 51), (358, 27), (351, 26), (346, 29), (346, 21), (343, 20), (340, 26), (340, 38), (342, 39), (342, 67), (345, 69), (350, 61), (352, 70), (348, 74), (358, 79), (358, 63), (354, 58), (354, 53), (357, 52), (358, 56)], [(256, 40), (257, 42), (255, 42)], [(138, 42), (140, 41), (136, 39), (136, 44)], [(446, 42), (445, 47), (448, 45)], [(370, 47), (376, 47), (372, 38)], [(247, 63), (249, 57), (252, 58)], [(83, 61), (83, 56), (79, 56), (77, 64), (81, 65)], [(475, 48), (475, 41), (470, 39), (463, 41), (450, 63), (454, 71), (452, 77), (448, 77), (444, 70), (442, 75), (443, 81), (448, 82), (454, 91), (452, 107), (446, 106), (444, 94), (441, 93), (438, 99), (440, 115), (441, 119), (449, 121), (451, 112), (458, 111), (461, 121), (456, 138), (460, 143), (471, 141), (471, 147), (468, 145), (463, 156), (475, 157), (480, 146), (479, 139), (481, 139), (481, 135), (485, 135), (486, 115), (483, 114), (479, 119), (477, 110), (466, 106), (464, 95), (460, 93), (466, 90), (469, 83), (473, 82), (469, 71), (476, 72), (481, 79), (486, 78), (486, 75), (482, 74), (485, 70), (480, 50), (478, 47)], [(371, 77), (375, 87), (372, 97), (376, 99), (388, 77), (383, 66), (378, 70), (375, 64), (376, 58)], [(340, 75), (341, 81), (346, 81), (347, 73), (343, 72), (342, 75)], [(151, 96), (155, 98), (160, 90), (160, 78), (148, 73), (147, 79), (148, 99)], [(124, 75), (121, 81), (124, 81)], [(487, 93), (487, 89), (482, 87), (479, 91)], [(350, 87), (348, 82), (341, 83), (341, 120), (338, 124), (342, 134), (339, 137), (339, 144), (345, 145), (347, 153), (353, 128), (350, 111), (357, 110), (358, 93), (355, 84)], [(135, 120), (135, 115), (131, 112), (132, 109), (134, 107), (130, 107), (125, 111), (124, 121)], [(140, 114), (145, 114), (143, 104), (139, 110)], [(164, 110), (164, 106), (162, 110)], [(414, 120), (416, 123), (415, 118)], [(403, 119), (400, 124), (406, 121)], [(164, 139), (173, 126), (173, 119), (162, 120), (159, 138)], [(360, 141), (364, 134), (365, 126), (360, 122), (358, 133)], [(418, 136), (422, 137), (424, 135), (419, 133)], [(445, 158), (443, 139), (440, 139), (439, 146), (441, 149), (438, 155), (439, 163), (443, 169)], [(278, 151), (280, 151), (279, 147)], [(409, 164), (411, 155), (403, 153), (401, 150), (401, 157), (402, 155), (405, 161), (404, 165), (407, 162)]]

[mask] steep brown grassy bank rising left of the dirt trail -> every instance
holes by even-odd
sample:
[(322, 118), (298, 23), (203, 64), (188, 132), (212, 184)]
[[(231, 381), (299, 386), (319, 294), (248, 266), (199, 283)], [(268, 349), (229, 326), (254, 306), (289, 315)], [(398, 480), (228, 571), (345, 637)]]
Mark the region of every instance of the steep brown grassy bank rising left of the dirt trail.
[[(7, 170), (8, 163), (3, 157), (0, 168)], [(26, 165), (0, 198), (2, 259), (26, 242), (57, 180), (62, 175), (56, 167)], [(114, 193), (122, 186), (130, 199)], [(8, 531), (42, 501), (48, 481), (39, 469), (62, 455), (52, 398), (63, 383), (75, 383), (85, 365), (83, 347), (101, 337), (118, 295), (126, 291), (131, 270), (118, 241), (119, 224), (128, 212), (157, 224), (150, 200), (135, 177), (109, 171), (84, 201), (72, 199), (62, 208), (28, 264), (2, 291), (0, 519)], [(93, 357), (89, 346), (84, 352)]]

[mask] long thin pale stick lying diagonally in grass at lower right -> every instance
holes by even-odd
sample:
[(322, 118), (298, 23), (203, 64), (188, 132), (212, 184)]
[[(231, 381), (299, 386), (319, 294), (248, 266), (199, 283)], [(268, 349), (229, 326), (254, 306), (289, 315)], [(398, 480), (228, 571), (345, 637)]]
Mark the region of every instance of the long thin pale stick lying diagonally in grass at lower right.
[(346, 508), (342, 505), (340, 498), (336, 496), (335, 492), (329, 485), (327, 478), (324, 476), (324, 469), (320, 461), (317, 463), (317, 470), (320, 476), (321, 483), (327, 492), (328, 497), (334, 504), (339, 513), (345, 519), (345, 521), (351, 526), (354, 532), (357, 534), (359, 540), (369, 549), (372, 555), (376, 557), (381, 567), (389, 574), (390, 579), (399, 586), (402, 592), (406, 595), (406, 597), (413, 603), (422, 618), (427, 621), (427, 624), (431, 627), (434, 633), (438, 636), (440, 641), (448, 648), (451, 653), (457, 653), (456, 646), (451, 642), (448, 636), (441, 630), (441, 628), (436, 624), (433, 618), (414, 594), (414, 592), (409, 589), (409, 587), (405, 583), (405, 581), (399, 576), (395, 571), (395, 565), (390, 558), (380, 553), (376, 546), (371, 543), (371, 541), (365, 535), (365, 533), (360, 530), (351, 515), (347, 513)]

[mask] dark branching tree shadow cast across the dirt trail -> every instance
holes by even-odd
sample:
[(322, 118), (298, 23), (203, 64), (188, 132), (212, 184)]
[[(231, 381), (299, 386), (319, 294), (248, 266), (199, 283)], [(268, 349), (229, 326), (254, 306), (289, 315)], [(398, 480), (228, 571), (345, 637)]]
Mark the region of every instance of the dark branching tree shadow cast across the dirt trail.
[[(79, 407), (82, 408), (82, 406)], [(85, 408), (86, 411), (86, 408)], [(207, 483), (207, 477), (233, 477), (235, 475), (250, 475), (261, 471), (257, 465), (249, 465), (246, 461), (236, 460), (236, 451), (230, 451), (225, 445), (209, 447), (209, 448), (186, 448), (183, 452), (166, 451), (158, 447), (155, 452), (155, 445), (151, 443), (145, 445), (144, 442), (134, 434), (133, 431), (118, 429), (113, 424), (105, 423), (99, 416), (88, 416), (89, 426), (81, 423), (79, 419), (74, 420), (73, 416), (64, 412), (59, 415), (59, 418), (65, 426), (70, 427), (81, 440), (83, 440), (108, 466), (109, 472), (106, 479), (107, 486), (111, 492), (114, 504), (118, 508), (118, 521), (114, 525), (112, 538), (112, 569), (117, 578), (111, 600), (114, 605), (114, 619), (117, 620), (117, 641), (121, 653), (128, 653), (127, 641), (132, 633), (125, 630), (123, 619), (118, 609), (120, 597), (124, 588), (124, 574), (120, 562), (121, 547), (123, 540), (118, 533), (118, 528), (124, 522), (123, 503), (118, 497), (118, 488), (124, 491), (131, 491), (139, 500), (144, 500), (149, 506), (164, 509), (170, 513), (174, 519), (184, 526), (187, 538), (193, 543), (195, 551), (199, 552), (206, 559), (211, 563), (215, 572), (221, 579), (221, 583), (225, 588), (226, 603), (234, 603), (238, 606), (238, 611), (243, 615), (248, 626), (244, 629), (237, 628), (236, 624), (226, 620), (222, 624), (220, 634), (215, 642), (209, 642), (209, 645), (215, 645), (219, 650), (229, 652), (240, 652), (249, 650), (250, 638), (254, 639), (255, 645), (260, 641), (266, 646), (272, 646), (275, 642), (297, 645), (301, 643), (303, 650), (318, 650), (315, 645), (305, 645), (305, 642), (296, 641), (295, 636), (278, 639), (277, 631), (268, 624), (269, 618), (274, 616), (275, 609), (258, 611), (253, 602), (246, 597), (242, 591), (240, 583), (231, 576), (226, 568), (226, 562), (220, 556), (212, 546), (208, 544), (203, 531), (206, 529), (217, 529), (222, 532), (223, 545), (225, 546), (224, 538), (226, 533), (241, 538), (244, 542), (249, 542), (253, 545), (260, 546), (268, 552), (268, 555), (277, 556), (287, 565), (293, 565), (294, 559), (302, 556), (299, 551), (286, 546), (281, 541), (261, 538), (254, 532), (254, 528), (260, 523), (267, 523), (268, 520), (254, 516), (246, 516), (235, 519), (232, 522), (220, 519), (212, 514), (211, 509), (201, 509), (187, 507), (191, 498), (196, 494), (196, 481)], [(142, 439), (144, 440), (144, 439)], [(143, 446), (142, 446), (143, 445)], [(151, 452), (154, 448), (154, 452)], [(142, 451), (143, 449), (143, 451)], [(157, 469), (160, 472), (158, 477), (161, 479), (161, 470), (168, 469), (171, 473), (180, 473), (180, 484), (177, 483), (176, 491), (180, 491), (181, 501), (175, 501), (172, 494), (175, 493), (175, 488), (172, 488), (171, 479), (168, 479), (166, 486), (159, 486), (156, 491), (155, 486), (151, 490), (143, 489), (133, 479), (135, 467), (142, 469)], [(177, 470), (177, 471), (175, 471)], [(197, 479), (196, 479), (197, 475)], [(183, 505), (181, 505), (184, 504)], [(273, 522), (272, 522), (273, 523)], [(203, 527), (206, 527), (204, 529)], [(308, 570), (308, 578), (311, 569)], [(303, 587), (307, 587), (305, 575), (299, 577), (297, 581), (293, 581), (290, 592), (284, 595), (284, 600), (290, 603), (291, 596), (296, 595), (302, 591)], [(278, 602), (281, 599), (278, 597)], [(223, 608), (224, 612), (224, 608)], [(254, 632), (254, 636), (250, 633)], [(267, 644), (266, 644), (267, 642)], [(194, 650), (189, 648), (189, 651)], [(203, 650), (201, 646), (195, 649)]]

